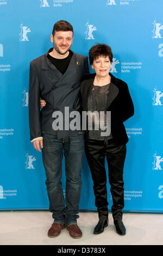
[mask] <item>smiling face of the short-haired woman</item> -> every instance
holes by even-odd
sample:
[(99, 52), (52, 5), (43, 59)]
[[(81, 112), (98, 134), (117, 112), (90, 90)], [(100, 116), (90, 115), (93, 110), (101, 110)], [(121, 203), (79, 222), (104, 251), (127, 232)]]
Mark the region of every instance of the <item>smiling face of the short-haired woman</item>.
[(97, 76), (105, 77), (109, 74), (111, 62), (109, 57), (99, 56), (97, 59), (93, 60), (93, 64), (91, 66), (92, 69), (95, 70)]

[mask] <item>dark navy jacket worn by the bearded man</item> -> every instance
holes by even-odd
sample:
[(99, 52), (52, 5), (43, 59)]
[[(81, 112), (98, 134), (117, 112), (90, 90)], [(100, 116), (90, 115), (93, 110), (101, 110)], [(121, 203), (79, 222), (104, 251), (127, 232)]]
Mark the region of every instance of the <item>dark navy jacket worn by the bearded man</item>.
[[(41, 137), (42, 131), (56, 134), (52, 128), (54, 111), (64, 114), (65, 107), (78, 111), (80, 107), (80, 83), (89, 73), (87, 57), (72, 52), (70, 64), (64, 75), (55, 68), (46, 54), (30, 62), (29, 74), (29, 127), (30, 140)], [(40, 98), (46, 106), (40, 111)], [(64, 115), (63, 115), (64, 116)], [(77, 131), (57, 131), (58, 138), (76, 136)]]

